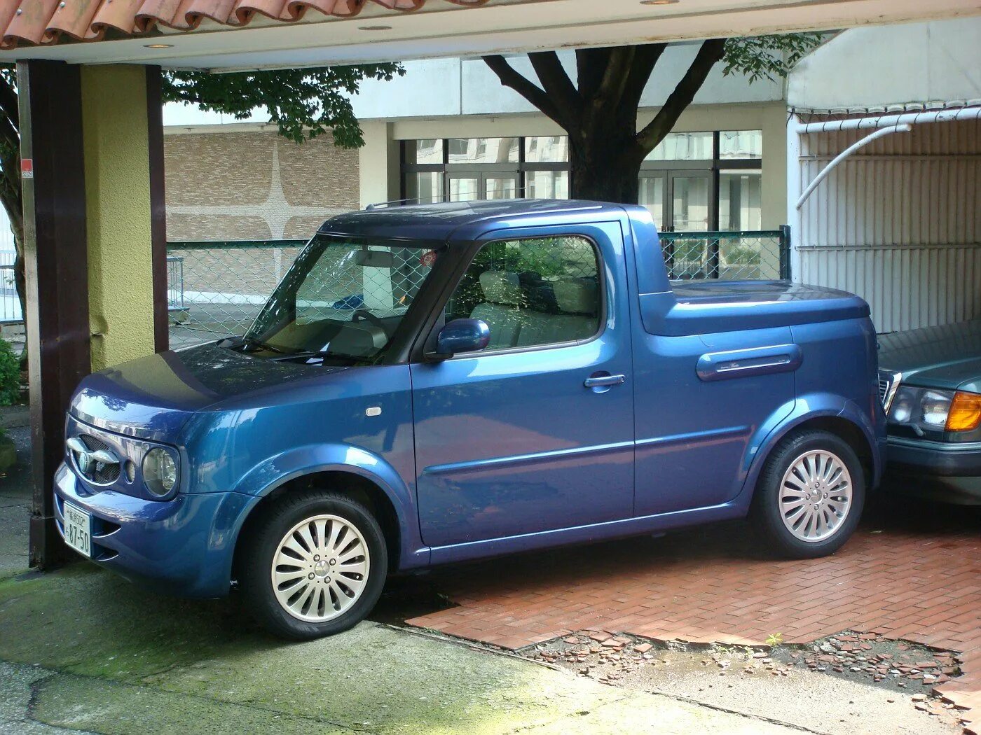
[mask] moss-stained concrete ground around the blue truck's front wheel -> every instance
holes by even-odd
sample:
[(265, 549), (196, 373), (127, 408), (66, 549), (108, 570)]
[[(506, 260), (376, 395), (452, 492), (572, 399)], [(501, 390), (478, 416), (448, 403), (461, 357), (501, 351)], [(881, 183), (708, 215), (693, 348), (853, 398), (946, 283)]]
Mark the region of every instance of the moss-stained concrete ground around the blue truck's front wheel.
[(0, 730), (793, 729), (380, 623), (284, 643), (256, 630), (236, 603), (160, 598), (80, 564), (0, 581)]

